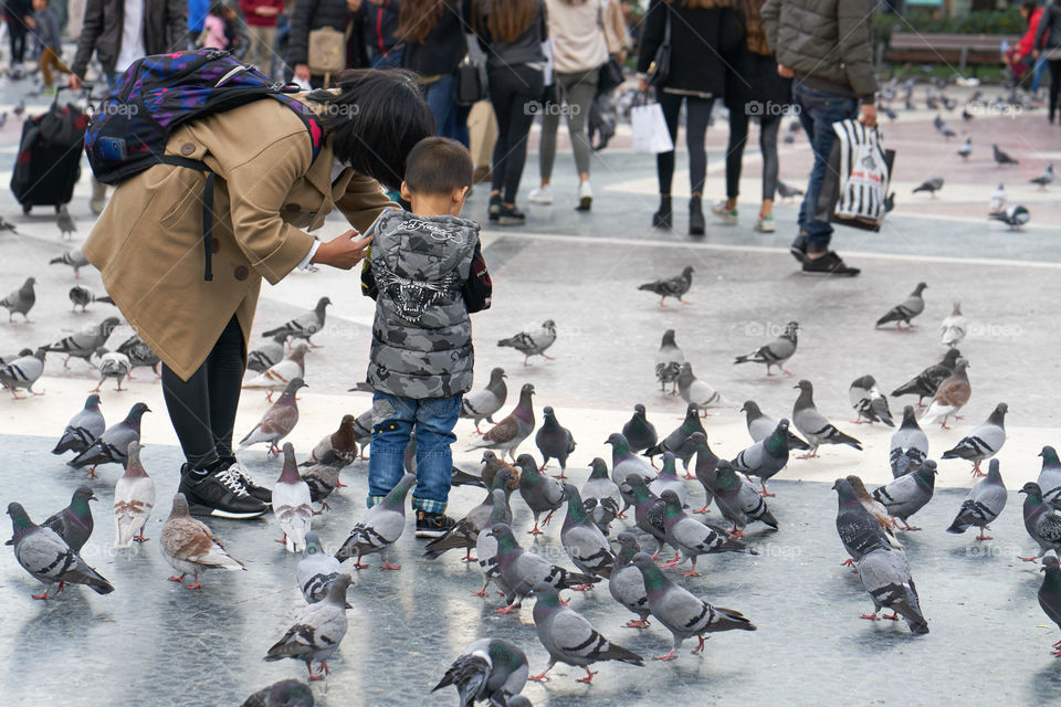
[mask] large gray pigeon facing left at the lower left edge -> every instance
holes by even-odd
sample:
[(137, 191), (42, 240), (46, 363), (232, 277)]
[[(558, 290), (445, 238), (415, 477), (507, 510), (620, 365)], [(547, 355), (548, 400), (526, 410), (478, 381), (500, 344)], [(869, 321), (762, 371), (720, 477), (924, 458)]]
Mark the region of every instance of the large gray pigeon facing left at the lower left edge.
[(52, 599), (54, 594), (49, 594), (48, 590), (56, 582), (59, 589), (55, 594), (63, 591), (66, 584), (85, 584), (97, 594), (109, 594), (114, 591), (111, 582), (88, 567), (59, 534), (30, 520), (21, 504), (8, 504), (8, 515), (11, 516), (14, 532), (11, 538), (14, 559), (22, 569), (44, 584), (44, 591), (33, 594), (33, 599)]

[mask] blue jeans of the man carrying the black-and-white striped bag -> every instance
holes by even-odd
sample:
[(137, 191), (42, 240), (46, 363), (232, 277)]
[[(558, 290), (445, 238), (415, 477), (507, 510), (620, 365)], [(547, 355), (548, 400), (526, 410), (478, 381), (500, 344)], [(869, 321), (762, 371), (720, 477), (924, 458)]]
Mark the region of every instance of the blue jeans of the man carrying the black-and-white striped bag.
[(807, 193), (799, 209), (799, 232), (807, 235), (809, 253), (824, 253), (829, 250), (832, 226), (828, 221), (816, 220), (815, 210), (818, 205), (818, 194), (821, 192), (821, 182), (826, 178), (826, 170), (829, 169), (829, 151), (837, 139), (832, 124), (858, 117), (859, 102), (805, 86), (794, 86), (792, 98), (799, 109), (799, 122), (815, 151), (815, 166), (810, 170)]

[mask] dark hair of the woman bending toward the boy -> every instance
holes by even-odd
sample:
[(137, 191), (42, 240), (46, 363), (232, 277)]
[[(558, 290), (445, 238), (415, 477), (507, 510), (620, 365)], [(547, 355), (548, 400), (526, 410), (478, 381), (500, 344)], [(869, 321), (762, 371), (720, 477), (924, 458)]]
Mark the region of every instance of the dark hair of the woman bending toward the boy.
[(335, 88), (314, 91), (308, 99), (335, 157), (388, 189), (401, 187), (413, 145), (434, 133), (434, 116), (412, 74), (401, 70), (354, 68), (340, 72)]

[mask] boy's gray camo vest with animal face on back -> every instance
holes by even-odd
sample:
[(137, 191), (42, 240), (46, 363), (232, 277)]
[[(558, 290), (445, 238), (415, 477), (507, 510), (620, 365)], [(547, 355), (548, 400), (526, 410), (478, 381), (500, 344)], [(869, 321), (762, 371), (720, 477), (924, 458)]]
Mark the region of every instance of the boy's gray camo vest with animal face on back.
[(368, 382), (406, 398), (449, 398), (472, 387), (472, 323), (461, 294), (479, 224), (386, 211), (369, 263), (376, 320)]

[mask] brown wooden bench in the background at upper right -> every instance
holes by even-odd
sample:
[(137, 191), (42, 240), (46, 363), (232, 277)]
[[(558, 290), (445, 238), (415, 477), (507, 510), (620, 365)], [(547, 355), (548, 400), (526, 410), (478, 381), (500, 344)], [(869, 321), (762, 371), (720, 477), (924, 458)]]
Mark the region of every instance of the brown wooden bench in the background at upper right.
[(970, 64), (1001, 64), (1002, 42), (1010, 46), (1020, 40), (1012, 34), (918, 34), (892, 32), (885, 48), (878, 48), (879, 62), (911, 62), (921, 64), (956, 64), (965, 74)]

